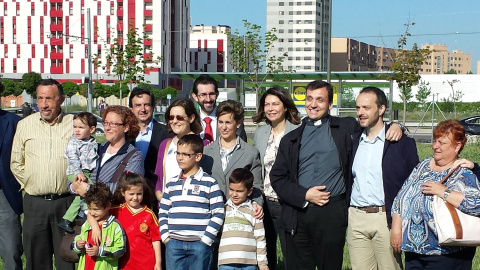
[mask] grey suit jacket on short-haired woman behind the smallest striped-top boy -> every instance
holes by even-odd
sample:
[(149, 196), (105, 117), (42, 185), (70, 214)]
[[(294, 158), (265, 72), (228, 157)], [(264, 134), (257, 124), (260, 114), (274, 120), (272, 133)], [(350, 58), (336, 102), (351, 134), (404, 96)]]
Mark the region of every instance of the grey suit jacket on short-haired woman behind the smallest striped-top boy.
[(203, 170), (210, 174), (215, 180), (217, 180), (220, 189), (223, 191), (225, 198), (228, 199), (228, 179), (230, 174), (236, 168), (245, 168), (252, 172), (254, 176), (253, 180), (253, 192), (250, 195), (251, 199), (257, 202), (260, 206), (263, 206), (263, 180), (262, 180), (262, 165), (260, 164), (260, 154), (258, 150), (244, 142), (239, 140), (240, 148), (233, 152), (230, 161), (228, 162), (225, 172), (222, 169), (222, 161), (220, 158), (220, 141), (206, 146), (203, 150), (203, 157), (200, 161), (200, 166)]

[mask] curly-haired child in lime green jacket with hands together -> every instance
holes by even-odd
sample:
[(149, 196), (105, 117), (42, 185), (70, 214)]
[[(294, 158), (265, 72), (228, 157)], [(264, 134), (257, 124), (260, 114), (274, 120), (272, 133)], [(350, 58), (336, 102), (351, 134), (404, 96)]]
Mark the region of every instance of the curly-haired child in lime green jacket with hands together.
[(92, 241), (92, 230), (87, 220), (82, 225), (80, 235), (75, 237), (73, 250), (80, 254), (79, 270), (83, 269), (118, 269), (118, 258), (126, 251), (126, 236), (117, 219), (109, 214), (112, 193), (103, 183), (90, 186), (85, 194), (85, 203), (88, 205), (88, 215), (101, 228), (100, 245)]

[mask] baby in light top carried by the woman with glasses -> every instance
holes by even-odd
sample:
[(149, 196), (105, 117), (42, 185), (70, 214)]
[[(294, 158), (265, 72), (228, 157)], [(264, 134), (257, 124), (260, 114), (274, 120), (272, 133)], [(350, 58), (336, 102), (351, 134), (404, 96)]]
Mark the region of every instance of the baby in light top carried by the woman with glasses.
[[(67, 175), (70, 183), (75, 178), (90, 182), (90, 173), (95, 169), (98, 159), (98, 144), (92, 137), (96, 126), (97, 119), (89, 112), (81, 112), (73, 117), (73, 135), (65, 150), (68, 165)], [(75, 232), (72, 225), (80, 211), (81, 200), (80, 196), (76, 196), (63, 216), (63, 220), (58, 223), (58, 226), (68, 233)]]

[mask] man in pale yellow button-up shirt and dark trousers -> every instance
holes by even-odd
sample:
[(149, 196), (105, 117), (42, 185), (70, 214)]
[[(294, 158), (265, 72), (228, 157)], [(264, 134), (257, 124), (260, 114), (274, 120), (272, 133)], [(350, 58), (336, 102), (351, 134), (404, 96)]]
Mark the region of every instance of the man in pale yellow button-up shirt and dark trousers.
[(60, 258), (63, 230), (57, 226), (75, 196), (67, 188), (65, 148), (72, 136), (73, 115), (62, 112), (62, 85), (53, 79), (37, 86), (39, 113), (18, 123), (10, 168), (23, 198), (23, 246), (27, 269), (74, 269)]

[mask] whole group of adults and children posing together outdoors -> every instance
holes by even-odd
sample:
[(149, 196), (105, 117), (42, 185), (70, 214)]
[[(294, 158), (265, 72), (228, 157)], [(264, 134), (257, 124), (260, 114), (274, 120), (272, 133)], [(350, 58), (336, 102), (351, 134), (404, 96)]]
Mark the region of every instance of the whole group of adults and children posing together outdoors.
[(95, 118), (61, 111), (52, 79), (37, 87), (39, 113), (0, 111), (1, 153), (11, 153), (0, 160), (6, 269), (21, 269), (23, 251), (27, 269), (52, 269), (52, 255), (73, 269), (59, 246), (77, 217), (87, 220), (72, 243), (79, 269), (275, 269), (277, 238), (287, 269), (341, 269), (345, 241), (353, 269), (471, 268), (475, 249), (440, 246), (431, 211), (437, 195), (480, 215), (480, 167), (459, 158), (458, 121), (438, 124), (433, 157), (419, 162), (403, 127), (384, 123), (382, 90), (362, 89), (358, 120), (339, 118), (329, 115), (332, 85), (313, 81), (303, 120), (283, 88), (263, 94), (252, 146), (243, 107), (217, 105), (218, 95), (201, 75), (200, 111), (177, 99), (163, 126), (153, 94), (135, 88), (129, 108), (102, 112), (102, 144)]

